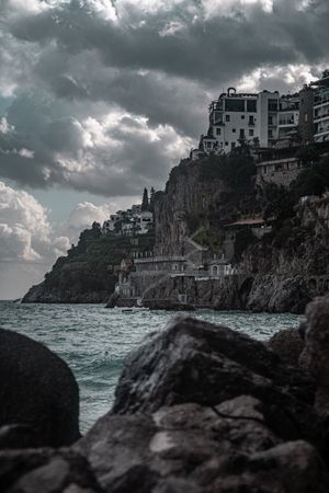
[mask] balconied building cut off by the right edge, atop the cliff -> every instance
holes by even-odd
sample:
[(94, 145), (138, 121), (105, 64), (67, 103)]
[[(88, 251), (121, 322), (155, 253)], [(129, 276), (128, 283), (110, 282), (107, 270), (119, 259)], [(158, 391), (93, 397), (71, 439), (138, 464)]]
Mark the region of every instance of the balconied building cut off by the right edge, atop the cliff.
[(316, 142), (329, 140), (329, 70), (325, 70), (321, 79), (311, 83), (315, 88), (314, 124)]

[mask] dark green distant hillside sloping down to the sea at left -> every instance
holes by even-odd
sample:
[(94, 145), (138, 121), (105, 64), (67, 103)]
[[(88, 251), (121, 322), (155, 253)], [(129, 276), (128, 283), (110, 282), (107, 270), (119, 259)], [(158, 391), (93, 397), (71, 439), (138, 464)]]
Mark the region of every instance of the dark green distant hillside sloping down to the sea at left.
[[(138, 244), (136, 244), (138, 242)], [(134, 252), (152, 248), (151, 234), (140, 236), (133, 244), (128, 237), (102, 234), (93, 223), (80, 234), (67, 256), (57, 260), (45, 280), (33, 286), (23, 302), (105, 302), (117, 282), (121, 261)]]

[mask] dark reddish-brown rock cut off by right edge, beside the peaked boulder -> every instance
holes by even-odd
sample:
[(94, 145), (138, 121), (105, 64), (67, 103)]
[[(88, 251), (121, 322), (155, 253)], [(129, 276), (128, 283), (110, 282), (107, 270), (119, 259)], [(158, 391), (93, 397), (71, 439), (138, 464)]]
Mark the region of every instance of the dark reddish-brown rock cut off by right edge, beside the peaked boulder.
[(306, 317), (305, 353), (316, 378), (316, 409), (329, 417), (329, 297), (309, 303)]

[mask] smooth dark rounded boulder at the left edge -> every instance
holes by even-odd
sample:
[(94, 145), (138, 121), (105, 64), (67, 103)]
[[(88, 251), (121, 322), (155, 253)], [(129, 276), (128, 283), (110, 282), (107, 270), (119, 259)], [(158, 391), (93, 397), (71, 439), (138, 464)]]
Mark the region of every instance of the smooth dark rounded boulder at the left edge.
[(44, 345), (0, 329), (0, 447), (61, 446), (79, 436), (71, 370)]

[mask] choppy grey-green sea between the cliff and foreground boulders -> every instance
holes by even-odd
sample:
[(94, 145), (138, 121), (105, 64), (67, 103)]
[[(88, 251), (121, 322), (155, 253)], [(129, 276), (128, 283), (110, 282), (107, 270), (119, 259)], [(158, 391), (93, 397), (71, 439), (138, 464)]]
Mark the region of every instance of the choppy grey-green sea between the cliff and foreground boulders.
[[(143, 337), (161, 331), (175, 316), (167, 311), (105, 309), (101, 305), (21, 305), (0, 302), (0, 326), (44, 343), (70, 366), (80, 387), (81, 432), (111, 409), (127, 353)], [(283, 313), (200, 310), (184, 312), (224, 324), (258, 340), (297, 325), (303, 317)]]

